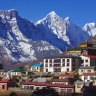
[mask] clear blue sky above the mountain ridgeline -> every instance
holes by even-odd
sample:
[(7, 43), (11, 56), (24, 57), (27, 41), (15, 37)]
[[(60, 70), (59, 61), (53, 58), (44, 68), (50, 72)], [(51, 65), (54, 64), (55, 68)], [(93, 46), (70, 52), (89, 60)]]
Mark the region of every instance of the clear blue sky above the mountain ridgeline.
[(96, 0), (0, 0), (0, 10), (9, 9), (16, 9), (19, 16), (34, 23), (51, 11), (70, 17), (80, 27), (96, 21)]

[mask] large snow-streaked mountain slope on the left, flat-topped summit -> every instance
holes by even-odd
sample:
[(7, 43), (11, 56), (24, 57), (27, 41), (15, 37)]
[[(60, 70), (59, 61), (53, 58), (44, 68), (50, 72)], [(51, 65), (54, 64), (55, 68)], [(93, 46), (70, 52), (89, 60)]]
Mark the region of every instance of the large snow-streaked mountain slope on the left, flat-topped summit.
[(36, 26), (18, 16), (16, 10), (0, 11), (0, 46), (5, 57), (14, 61), (29, 61), (61, 52), (42, 38)]

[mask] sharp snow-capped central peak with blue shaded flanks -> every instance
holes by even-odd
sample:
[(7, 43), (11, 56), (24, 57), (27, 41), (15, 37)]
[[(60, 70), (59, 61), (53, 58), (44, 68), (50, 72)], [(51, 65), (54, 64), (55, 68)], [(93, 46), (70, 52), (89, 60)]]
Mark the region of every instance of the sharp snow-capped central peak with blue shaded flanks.
[[(79, 26), (73, 24), (69, 17), (63, 19), (59, 17), (54, 11), (49, 13), (42, 20), (38, 21), (36, 26), (41, 32), (51, 34), (51, 37), (54, 35), (55, 40), (58, 38), (60, 42), (58, 42), (58, 44), (56, 43), (55, 46), (59, 47), (62, 51), (65, 50), (65, 47), (62, 46), (63, 44), (67, 44), (67, 47), (76, 46), (89, 38), (89, 35)], [(46, 38), (49, 38), (47, 36)], [(54, 42), (52, 40), (50, 41), (53, 44)]]

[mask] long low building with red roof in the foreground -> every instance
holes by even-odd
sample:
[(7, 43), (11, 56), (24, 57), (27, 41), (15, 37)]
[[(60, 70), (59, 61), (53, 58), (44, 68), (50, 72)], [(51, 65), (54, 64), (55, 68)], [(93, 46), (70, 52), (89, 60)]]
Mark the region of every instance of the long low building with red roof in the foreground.
[(74, 85), (64, 85), (64, 84), (50, 84), (50, 83), (38, 83), (38, 82), (23, 82), (22, 88), (24, 89), (31, 89), (31, 90), (38, 90), (42, 89), (43, 87), (51, 87), (56, 92), (59, 93), (74, 93), (75, 86)]

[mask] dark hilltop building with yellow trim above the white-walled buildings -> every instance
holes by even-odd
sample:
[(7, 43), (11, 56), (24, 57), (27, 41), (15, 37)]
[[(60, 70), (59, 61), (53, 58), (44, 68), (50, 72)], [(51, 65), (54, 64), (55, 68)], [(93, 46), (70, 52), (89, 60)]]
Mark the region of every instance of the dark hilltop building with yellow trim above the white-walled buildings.
[(80, 55), (94, 55), (96, 56), (96, 48), (93, 44), (88, 42), (81, 43), (80, 46), (72, 47), (67, 50), (67, 55), (70, 56), (80, 56)]

